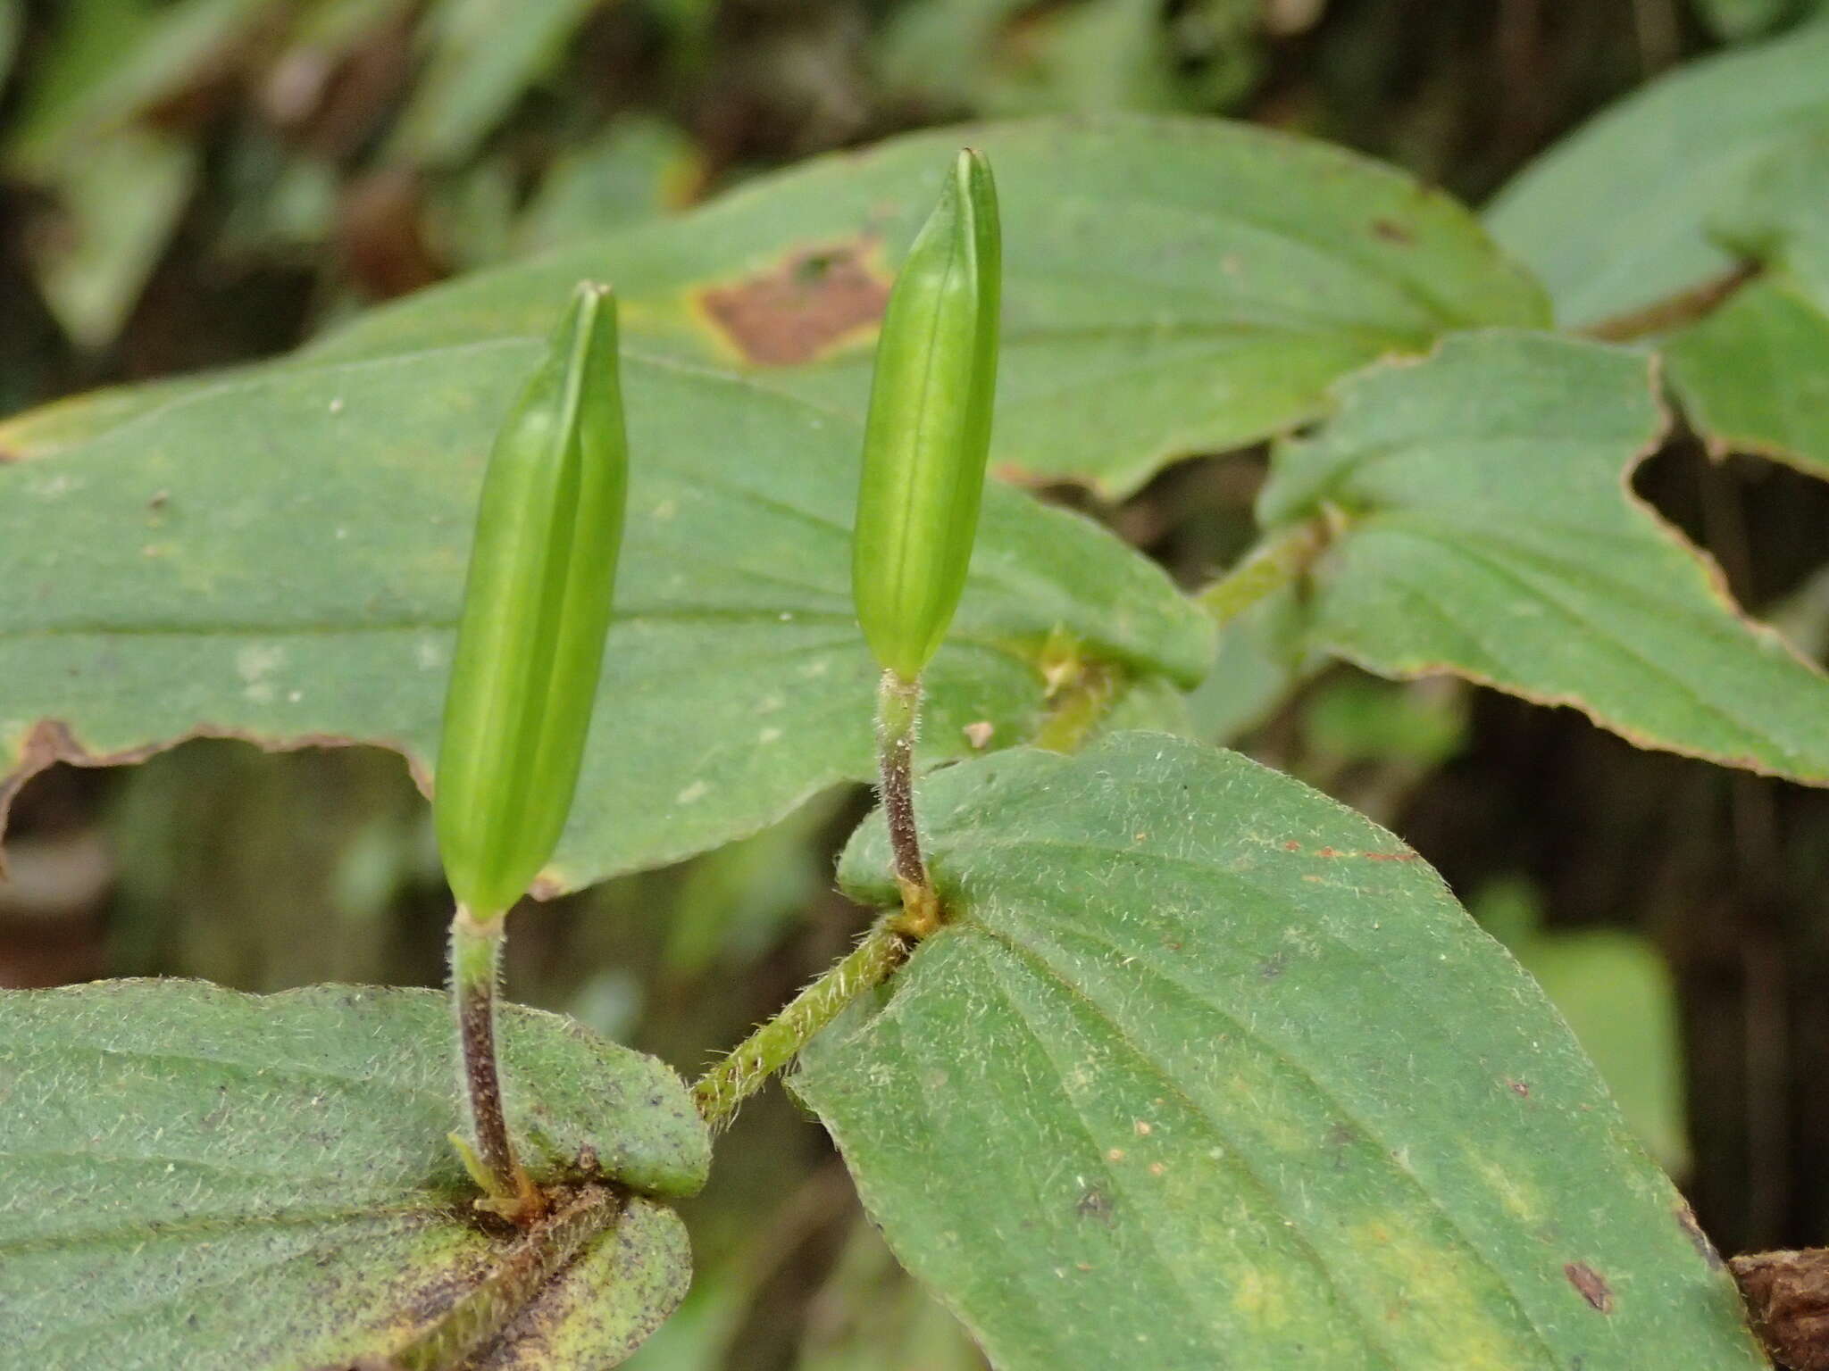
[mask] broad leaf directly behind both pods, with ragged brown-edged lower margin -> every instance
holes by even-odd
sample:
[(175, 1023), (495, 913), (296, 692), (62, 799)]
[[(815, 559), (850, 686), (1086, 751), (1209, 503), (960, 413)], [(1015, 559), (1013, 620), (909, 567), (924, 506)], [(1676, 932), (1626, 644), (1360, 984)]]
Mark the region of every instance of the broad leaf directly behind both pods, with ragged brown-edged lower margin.
[[(0, 466), (0, 804), (57, 757), (190, 733), (382, 742), (430, 771), (483, 459), (540, 355), (505, 338), (240, 373)], [(635, 351), (624, 389), (616, 622), (552, 888), (717, 846), (874, 770), (860, 426)], [(1156, 567), (993, 488), (927, 755), (980, 720), (997, 744), (1033, 735), (1055, 629), (1138, 680), (1193, 684), (1211, 653)]]

